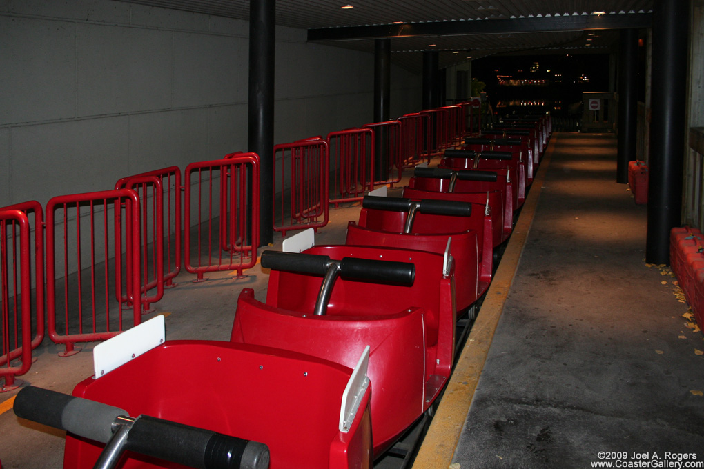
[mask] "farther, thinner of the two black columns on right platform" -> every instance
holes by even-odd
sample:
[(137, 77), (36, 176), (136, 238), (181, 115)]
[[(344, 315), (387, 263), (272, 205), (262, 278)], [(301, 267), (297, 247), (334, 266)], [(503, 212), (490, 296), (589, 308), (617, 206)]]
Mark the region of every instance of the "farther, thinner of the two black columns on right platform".
[(621, 30), (618, 54), (618, 153), (616, 182), (628, 183), (628, 163), (636, 160), (638, 125), (638, 30)]

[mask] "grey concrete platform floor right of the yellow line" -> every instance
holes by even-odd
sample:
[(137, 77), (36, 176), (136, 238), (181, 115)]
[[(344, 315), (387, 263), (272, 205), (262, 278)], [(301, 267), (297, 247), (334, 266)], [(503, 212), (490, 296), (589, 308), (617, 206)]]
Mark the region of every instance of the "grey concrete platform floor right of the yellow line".
[(552, 143), (451, 467), (704, 467), (703, 335), (676, 279), (645, 263), (646, 207), (615, 182), (615, 139)]

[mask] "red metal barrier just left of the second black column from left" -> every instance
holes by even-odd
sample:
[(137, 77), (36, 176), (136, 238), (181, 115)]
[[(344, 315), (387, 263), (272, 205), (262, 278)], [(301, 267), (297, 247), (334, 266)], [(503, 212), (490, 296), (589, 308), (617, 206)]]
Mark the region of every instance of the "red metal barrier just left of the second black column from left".
[(374, 190), (374, 131), (347, 129), (327, 134), (329, 153), (329, 203), (362, 200)]

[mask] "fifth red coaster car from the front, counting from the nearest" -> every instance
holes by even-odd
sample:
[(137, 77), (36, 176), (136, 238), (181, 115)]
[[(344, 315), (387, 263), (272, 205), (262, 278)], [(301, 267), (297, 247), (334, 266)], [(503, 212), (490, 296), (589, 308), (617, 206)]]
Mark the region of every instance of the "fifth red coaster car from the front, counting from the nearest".
[(439, 167), (453, 169), (508, 169), (515, 185), (515, 207), (521, 207), (526, 198), (525, 164), (514, 158), (510, 151), (445, 150)]

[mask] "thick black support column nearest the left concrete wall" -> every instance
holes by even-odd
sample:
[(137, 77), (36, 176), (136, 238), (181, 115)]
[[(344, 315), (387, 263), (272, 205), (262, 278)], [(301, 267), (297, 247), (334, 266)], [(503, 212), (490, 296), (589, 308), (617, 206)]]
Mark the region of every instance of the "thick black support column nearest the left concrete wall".
[(249, 151), (260, 159), (260, 245), (273, 240), (275, 0), (249, 2)]

